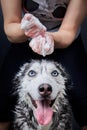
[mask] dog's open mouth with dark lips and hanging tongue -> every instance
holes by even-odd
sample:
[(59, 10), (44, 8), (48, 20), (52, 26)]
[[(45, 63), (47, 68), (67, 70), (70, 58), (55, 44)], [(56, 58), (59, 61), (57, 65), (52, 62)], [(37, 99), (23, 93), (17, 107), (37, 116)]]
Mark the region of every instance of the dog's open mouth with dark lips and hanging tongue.
[[(28, 94), (28, 96), (30, 96)], [(34, 107), (34, 116), (40, 125), (48, 125), (53, 117), (53, 104), (55, 100), (43, 98), (42, 100), (33, 100), (30, 96), (32, 105)]]

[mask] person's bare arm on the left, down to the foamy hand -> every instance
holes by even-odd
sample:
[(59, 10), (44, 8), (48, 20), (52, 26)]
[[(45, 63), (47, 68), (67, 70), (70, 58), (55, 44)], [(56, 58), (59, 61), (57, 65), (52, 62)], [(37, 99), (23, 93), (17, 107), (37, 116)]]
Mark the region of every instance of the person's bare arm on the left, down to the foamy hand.
[(26, 41), (27, 37), (20, 28), (22, 18), (22, 0), (1, 0), (4, 17), (4, 30), (11, 42)]

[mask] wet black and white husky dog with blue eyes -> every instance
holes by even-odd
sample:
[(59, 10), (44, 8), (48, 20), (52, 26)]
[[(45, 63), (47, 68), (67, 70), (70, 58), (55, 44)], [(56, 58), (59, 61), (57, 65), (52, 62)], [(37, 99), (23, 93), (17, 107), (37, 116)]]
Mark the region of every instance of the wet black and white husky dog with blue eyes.
[(70, 85), (60, 64), (32, 60), (20, 68), (14, 83), (18, 93), (15, 130), (72, 130)]

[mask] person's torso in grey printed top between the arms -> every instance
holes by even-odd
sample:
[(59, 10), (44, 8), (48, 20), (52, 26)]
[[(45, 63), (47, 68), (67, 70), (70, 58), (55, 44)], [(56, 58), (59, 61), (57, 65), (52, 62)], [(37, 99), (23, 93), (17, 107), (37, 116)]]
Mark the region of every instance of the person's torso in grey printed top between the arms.
[(70, 0), (23, 0), (23, 6), (36, 16), (48, 30), (58, 28)]

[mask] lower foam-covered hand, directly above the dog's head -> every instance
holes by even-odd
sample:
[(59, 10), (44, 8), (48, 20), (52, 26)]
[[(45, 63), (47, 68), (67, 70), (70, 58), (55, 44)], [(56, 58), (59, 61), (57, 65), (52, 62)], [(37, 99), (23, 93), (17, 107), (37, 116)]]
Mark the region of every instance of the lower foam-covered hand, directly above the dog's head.
[(31, 40), (29, 46), (40, 55), (46, 56), (54, 51), (54, 40), (51, 35), (45, 33), (44, 37), (39, 35)]

